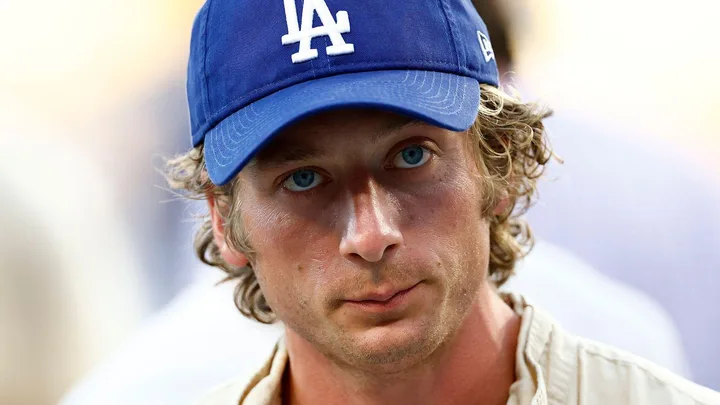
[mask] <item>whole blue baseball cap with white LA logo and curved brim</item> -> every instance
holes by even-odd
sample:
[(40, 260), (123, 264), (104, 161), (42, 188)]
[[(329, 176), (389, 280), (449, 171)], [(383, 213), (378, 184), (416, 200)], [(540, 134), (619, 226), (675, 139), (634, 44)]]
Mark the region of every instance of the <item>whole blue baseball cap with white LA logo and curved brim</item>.
[(193, 25), (193, 146), (228, 183), (279, 131), (333, 109), (394, 111), (464, 131), (498, 85), (470, 0), (208, 0)]

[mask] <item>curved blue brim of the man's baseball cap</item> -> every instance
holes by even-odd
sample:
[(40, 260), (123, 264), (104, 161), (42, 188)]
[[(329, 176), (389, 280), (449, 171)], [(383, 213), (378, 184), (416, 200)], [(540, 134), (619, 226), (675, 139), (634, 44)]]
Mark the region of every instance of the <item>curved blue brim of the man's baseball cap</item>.
[(394, 111), (453, 131), (468, 129), (480, 106), (476, 79), (451, 73), (389, 70), (303, 82), (238, 110), (205, 135), (210, 180), (229, 182), (280, 130), (342, 108)]

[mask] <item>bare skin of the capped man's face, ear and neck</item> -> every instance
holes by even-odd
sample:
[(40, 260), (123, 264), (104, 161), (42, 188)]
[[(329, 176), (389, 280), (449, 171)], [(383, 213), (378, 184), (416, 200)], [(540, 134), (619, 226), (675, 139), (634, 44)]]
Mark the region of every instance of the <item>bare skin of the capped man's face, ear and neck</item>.
[[(238, 175), (253, 269), (285, 325), (285, 403), (507, 401), (519, 319), (487, 280), (473, 159), (465, 133), (343, 110), (287, 128)], [(246, 264), (209, 203), (223, 257)]]

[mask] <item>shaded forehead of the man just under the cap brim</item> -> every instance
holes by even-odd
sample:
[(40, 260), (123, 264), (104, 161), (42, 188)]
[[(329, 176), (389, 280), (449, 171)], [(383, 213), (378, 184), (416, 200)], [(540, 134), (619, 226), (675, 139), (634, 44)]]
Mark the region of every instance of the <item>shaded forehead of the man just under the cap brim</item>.
[(428, 126), (421, 121), (383, 110), (351, 109), (313, 115), (278, 133), (249, 166), (301, 160), (334, 148), (378, 143), (407, 127)]

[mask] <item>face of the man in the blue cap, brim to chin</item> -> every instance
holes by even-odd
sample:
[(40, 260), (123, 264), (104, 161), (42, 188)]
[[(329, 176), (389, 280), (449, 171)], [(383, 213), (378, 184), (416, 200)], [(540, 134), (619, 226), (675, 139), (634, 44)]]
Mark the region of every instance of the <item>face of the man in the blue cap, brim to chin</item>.
[(485, 280), (467, 134), (375, 110), (279, 134), (239, 175), (253, 268), (278, 318), (335, 361), (428, 357)]

